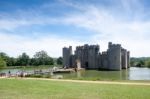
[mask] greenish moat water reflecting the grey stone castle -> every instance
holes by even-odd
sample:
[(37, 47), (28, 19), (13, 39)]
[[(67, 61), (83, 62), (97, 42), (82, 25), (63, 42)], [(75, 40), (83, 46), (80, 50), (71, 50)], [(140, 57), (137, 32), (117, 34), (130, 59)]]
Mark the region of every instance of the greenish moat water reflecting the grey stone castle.
[[(0, 73), (16, 73), (20, 69), (3, 69)], [(28, 69), (25, 71), (33, 71)], [(64, 79), (91, 79), (91, 80), (150, 80), (150, 68), (131, 67), (122, 71), (83, 70), (75, 73), (60, 73)]]

